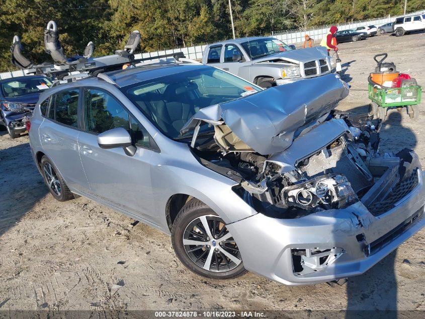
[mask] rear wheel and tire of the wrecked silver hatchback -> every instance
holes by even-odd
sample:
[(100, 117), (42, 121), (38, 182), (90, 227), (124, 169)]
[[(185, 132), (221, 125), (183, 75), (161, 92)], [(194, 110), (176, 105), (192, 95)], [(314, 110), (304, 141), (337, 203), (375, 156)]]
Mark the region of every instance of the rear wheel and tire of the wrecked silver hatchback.
[[(49, 165), (51, 169), (49, 169)], [(56, 200), (65, 202), (74, 198), (74, 195), (69, 190), (55, 164), (53, 164), (46, 155), (43, 155), (40, 160), (40, 169), (50, 194), (52, 194)], [(52, 178), (54, 178), (53, 182)]]

